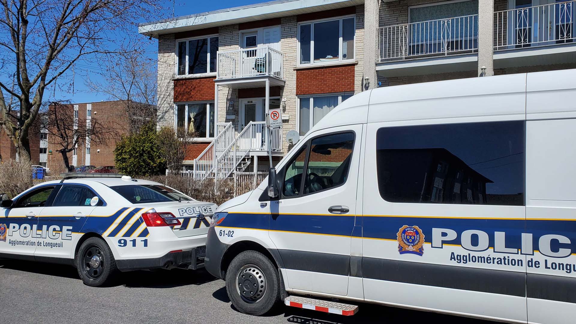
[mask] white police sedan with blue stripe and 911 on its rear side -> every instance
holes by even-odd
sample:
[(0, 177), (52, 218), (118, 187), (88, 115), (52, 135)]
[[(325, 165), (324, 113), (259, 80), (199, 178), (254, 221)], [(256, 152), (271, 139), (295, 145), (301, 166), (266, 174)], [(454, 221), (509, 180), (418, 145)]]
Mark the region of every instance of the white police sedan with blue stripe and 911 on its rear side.
[(115, 174), (69, 174), (1, 206), (1, 258), (68, 263), (94, 287), (117, 269), (203, 266), (217, 208), (164, 184)]

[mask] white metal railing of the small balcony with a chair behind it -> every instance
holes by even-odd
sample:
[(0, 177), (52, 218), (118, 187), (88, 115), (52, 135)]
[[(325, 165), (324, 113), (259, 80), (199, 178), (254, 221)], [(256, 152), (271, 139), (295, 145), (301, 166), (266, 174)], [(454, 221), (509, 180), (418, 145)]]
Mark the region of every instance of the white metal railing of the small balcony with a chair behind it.
[(219, 79), (272, 76), (283, 78), (281, 51), (263, 46), (235, 51), (218, 51)]

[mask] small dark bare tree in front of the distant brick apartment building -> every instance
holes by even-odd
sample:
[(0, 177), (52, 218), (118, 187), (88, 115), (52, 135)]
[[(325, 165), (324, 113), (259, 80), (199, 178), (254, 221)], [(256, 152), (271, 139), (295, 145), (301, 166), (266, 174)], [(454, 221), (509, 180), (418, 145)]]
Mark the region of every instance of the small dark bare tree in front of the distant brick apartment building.
[(43, 112), (42, 127), (48, 132), (48, 144), (55, 145), (62, 155), (66, 169), (70, 168), (68, 153), (77, 147), (82, 147), (89, 141), (90, 145), (106, 144), (119, 138), (118, 123), (113, 118), (100, 120), (95, 116), (86, 120), (78, 118), (73, 104), (53, 103)]

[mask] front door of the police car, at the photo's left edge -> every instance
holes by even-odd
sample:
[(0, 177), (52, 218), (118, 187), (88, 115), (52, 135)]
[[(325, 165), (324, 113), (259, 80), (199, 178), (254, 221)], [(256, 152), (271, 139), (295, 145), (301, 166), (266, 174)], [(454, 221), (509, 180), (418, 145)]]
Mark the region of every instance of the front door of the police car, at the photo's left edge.
[[(14, 200), (14, 207), (5, 209), (0, 217), (0, 227), (5, 228), (0, 235), (0, 252), (20, 254), (33, 259), (34, 251), (43, 231), (37, 231), (38, 216), (44, 205), (50, 204), (56, 186), (42, 186), (21, 195)], [(40, 228), (41, 229), (41, 228)]]

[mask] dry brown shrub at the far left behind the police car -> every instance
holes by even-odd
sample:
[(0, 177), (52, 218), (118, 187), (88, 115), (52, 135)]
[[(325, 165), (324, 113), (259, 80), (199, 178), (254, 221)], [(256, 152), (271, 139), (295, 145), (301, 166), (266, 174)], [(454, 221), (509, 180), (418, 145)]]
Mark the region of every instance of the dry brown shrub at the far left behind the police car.
[(6, 160), (0, 163), (0, 193), (6, 193), (12, 199), (33, 184), (29, 161)]

